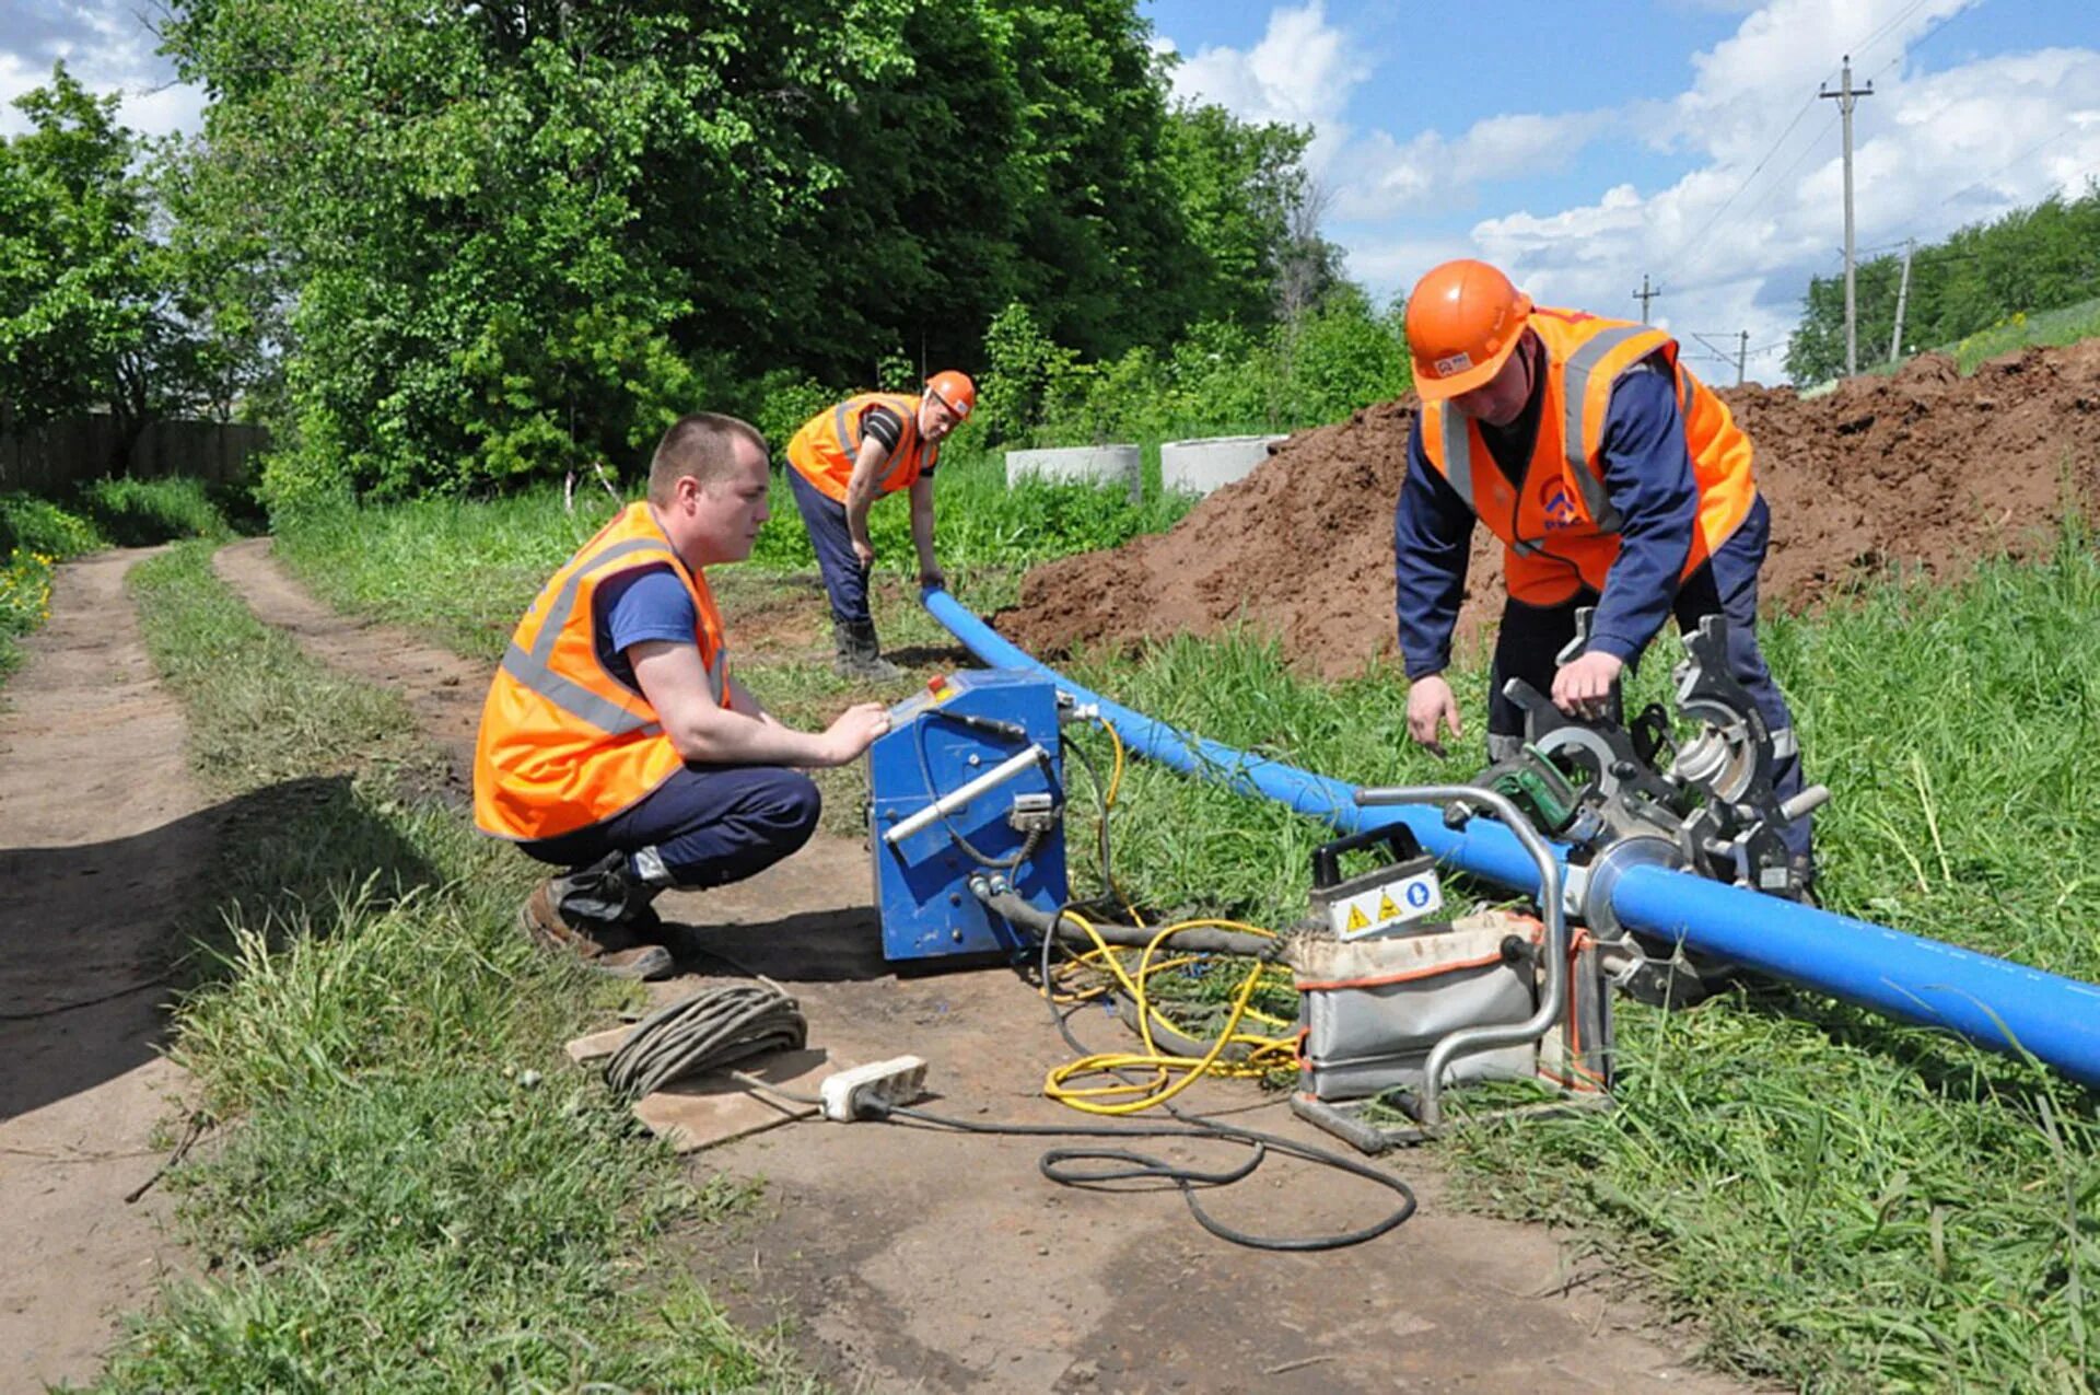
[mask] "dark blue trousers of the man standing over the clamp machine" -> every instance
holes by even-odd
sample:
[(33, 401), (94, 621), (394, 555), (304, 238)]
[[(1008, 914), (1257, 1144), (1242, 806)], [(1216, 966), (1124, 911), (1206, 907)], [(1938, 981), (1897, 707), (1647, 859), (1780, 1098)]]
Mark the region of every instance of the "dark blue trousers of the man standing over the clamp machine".
[[(1728, 620), (1728, 672), (1758, 704), (1772, 733), (1772, 790), (1779, 798), (1802, 792), (1802, 754), (1793, 737), (1793, 712), (1772, 681), (1772, 670), (1758, 649), (1758, 567), (1772, 536), (1772, 513), (1758, 498), (1743, 525), (1678, 586), (1672, 613), (1680, 630), (1697, 630), (1703, 616)], [(1598, 595), (1577, 590), (1560, 605), (1522, 605), (1508, 601), (1502, 611), (1502, 632), (1495, 637), (1495, 668), (1489, 676), (1487, 744), (1493, 758), (1504, 758), (1525, 735), (1525, 710), (1504, 698), (1502, 685), (1522, 679), (1539, 693), (1554, 691), (1558, 655), (1575, 639), (1575, 611), (1596, 605)], [(1619, 693), (1611, 698), (1611, 721), (1623, 721)], [(1785, 828), (1787, 853), (1808, 857), (1810, 819), (1800, 817)]]

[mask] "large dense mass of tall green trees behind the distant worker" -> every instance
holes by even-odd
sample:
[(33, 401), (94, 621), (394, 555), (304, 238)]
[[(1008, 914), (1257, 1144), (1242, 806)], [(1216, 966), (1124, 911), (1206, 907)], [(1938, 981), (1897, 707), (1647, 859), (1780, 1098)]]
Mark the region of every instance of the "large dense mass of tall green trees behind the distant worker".
[(281, 361), (281, 469), (359, 492), (634, 460), (766, 382), (979, 368), (1010, 303), (1090, 355), (1258, 319), (1302, 151), (1214, 113), (1176, 155), (1136, 0), (172, 8), (212, 92), (170, 240), (195, 324), (250, 389), (239, 349)]

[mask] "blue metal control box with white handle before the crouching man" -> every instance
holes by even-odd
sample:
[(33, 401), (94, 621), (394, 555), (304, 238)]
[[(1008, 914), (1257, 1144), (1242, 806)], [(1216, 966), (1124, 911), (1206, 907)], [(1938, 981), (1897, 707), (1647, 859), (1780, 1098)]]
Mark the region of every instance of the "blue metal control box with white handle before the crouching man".
[(1044, 912), (1065, 903), (1056, 687), (1018, 668), (934, 679), (890, 708), (867, 771), (882, 956), (1025, 950), (968, 882), (998, 872)]

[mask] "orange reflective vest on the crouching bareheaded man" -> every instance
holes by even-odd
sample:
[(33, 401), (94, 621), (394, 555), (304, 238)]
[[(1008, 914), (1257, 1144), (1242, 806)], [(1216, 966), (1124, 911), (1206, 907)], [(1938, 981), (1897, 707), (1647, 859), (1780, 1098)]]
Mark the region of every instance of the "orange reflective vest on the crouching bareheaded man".
[(649, 702), (598, 662), (592, 599), (643, 567), (670, 567), (693, 592), (693, 643), (708, 689), (729, 706), (729, 647), (708, 578), (678, 561), (649, 504), (628, 504), (554, 574), (510, 634), (475, 742), (483, 832), (536, 840), (588, 828), (682, 765)]

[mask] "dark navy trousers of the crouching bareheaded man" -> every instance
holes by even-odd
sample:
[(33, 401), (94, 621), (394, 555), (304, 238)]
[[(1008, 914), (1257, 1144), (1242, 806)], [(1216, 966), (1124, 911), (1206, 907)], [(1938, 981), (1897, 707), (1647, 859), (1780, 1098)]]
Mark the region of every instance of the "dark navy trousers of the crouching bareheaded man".
[(672, 887), (724, 887), (808, 842), (821, 807), (817, 782), (802, 771), (687, 765), (609, 819), (519, 847), (556, 868), (586, 868), (607, 853), (653, 849)]

